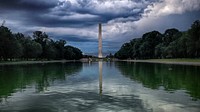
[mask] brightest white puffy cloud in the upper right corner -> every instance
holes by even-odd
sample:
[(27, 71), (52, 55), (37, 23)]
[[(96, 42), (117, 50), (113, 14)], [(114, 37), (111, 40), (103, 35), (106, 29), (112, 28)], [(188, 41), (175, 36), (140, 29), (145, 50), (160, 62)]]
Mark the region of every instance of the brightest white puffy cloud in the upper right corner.
[(170, 14), (182, 14), (187, 11), (200, 9), (199, 0), (162, 0), (149, 5), (143, 16), (165, 16)]

